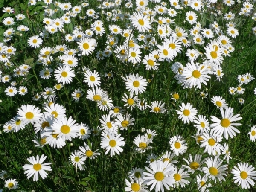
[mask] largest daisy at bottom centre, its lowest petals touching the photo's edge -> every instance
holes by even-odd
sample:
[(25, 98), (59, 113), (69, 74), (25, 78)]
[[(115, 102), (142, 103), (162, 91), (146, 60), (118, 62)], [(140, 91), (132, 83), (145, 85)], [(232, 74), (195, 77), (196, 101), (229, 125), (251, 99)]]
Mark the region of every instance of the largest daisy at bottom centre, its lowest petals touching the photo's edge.
[(151, 168), (146, 167), (148, 172), (143, 172), (145, 183), (151, 185), (150, 191), (155, 192), (164, 191), (163, 186), (167, 190), (170, 190), (169, 186), (173, 186), (175, 179), (173, 177), (175, 171), (174, 167), (168, 161), (154, 161), (150, 164)]

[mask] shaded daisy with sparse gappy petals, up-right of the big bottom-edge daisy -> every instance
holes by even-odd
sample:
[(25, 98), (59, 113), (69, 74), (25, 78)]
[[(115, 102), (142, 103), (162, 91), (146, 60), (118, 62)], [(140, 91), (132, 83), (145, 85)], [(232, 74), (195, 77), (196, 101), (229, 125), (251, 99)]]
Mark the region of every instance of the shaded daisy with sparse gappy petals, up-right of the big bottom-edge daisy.
[(186, 163), (189, 165), (189, 166), (186, 166), (186, 165), (183, 165), (183, 167), (189, 169), (188, 171), (189, 172), (192, 172), (192, 174), (198, 170), (198, 171), (201, 171), (201, 165), (204, 163), (204, 160), (201, 160), (202, 159), (202, 155), (198, 155), (196, 154), (195, 157), (194, 157), (194, 160), (192, 158), (192, 155), (189, 154), (189, 159), (185, 159), (183, 158), (184, 161), (186, 161)]

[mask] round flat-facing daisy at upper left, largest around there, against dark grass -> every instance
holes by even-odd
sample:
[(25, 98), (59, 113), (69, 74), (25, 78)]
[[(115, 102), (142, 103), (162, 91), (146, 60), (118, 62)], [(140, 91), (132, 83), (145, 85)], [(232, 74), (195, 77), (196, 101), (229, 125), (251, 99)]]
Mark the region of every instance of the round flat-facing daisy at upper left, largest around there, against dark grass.
[(54, 70), (54, 76), (58, 83), (70, 84), (75, 77), (75, 72), (69, 66), (64, 65)]

